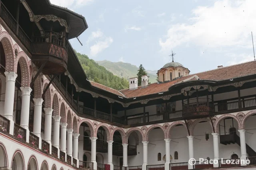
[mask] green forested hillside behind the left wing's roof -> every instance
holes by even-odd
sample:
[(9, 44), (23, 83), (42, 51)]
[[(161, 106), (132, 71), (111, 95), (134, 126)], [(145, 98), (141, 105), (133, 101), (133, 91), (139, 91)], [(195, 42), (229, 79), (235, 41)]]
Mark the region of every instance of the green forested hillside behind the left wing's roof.
[(106, 70), (106, 68), (100, 66), (94, 60), (89, 59), (85, 54), (76, 52), (76, 55), (89, 80), (116, 90), (129, 88), (129, 82), (125, 78), (115, 76), (112, 72)]

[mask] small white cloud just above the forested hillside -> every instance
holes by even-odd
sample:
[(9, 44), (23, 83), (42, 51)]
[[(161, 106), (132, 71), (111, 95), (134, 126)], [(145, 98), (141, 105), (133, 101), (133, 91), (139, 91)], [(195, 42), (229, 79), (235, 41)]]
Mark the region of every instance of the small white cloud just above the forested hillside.
[(104, 49), (108, 48), (110, 44), (112, 44), (112, 42), (113, 42), (112, 37), (108, 37), (108, 38), (105, 38), (105, 40), (103, 41), (96, 42), (96, 44), (90, 46), (91, 56), (95, 56), (99, 52), (102, 52)]

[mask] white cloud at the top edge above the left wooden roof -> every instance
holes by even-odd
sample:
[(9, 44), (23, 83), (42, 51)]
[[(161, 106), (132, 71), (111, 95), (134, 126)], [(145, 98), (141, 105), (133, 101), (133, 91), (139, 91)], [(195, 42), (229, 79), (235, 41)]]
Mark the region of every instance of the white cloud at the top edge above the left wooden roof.
[(81, 8), (93, 2), (94, 0), (50, 0), (54, 5), (66, 7), (66, 8)]

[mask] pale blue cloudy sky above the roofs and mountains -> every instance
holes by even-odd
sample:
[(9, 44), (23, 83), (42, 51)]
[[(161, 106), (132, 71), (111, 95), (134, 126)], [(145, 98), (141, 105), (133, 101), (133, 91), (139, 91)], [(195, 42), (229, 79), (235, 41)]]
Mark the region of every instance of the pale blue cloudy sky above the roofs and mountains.
[(190, 74), (254, 60), (256, 0), (50, 0), (86, 18), (70, 40), (93, 60), (159, 70), (174, 60)]

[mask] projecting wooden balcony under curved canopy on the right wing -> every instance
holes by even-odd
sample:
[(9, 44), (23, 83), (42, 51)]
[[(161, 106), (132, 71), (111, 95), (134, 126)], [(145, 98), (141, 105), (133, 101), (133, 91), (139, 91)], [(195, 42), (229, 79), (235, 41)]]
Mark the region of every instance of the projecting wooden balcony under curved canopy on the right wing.
[(194, 102), (184, 104), (182, 117), (186, 119), (195, 119), (208, 116), (214, 116), (214, 104), (212, 102)]

